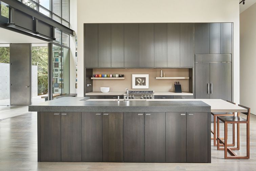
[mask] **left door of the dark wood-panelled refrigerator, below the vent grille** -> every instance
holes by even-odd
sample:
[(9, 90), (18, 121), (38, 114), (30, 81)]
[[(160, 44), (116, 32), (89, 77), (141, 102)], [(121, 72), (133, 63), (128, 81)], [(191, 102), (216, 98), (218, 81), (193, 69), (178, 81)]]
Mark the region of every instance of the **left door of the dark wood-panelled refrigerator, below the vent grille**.
[(195, 98), (210, 98), (210, 63), (195, 63)]

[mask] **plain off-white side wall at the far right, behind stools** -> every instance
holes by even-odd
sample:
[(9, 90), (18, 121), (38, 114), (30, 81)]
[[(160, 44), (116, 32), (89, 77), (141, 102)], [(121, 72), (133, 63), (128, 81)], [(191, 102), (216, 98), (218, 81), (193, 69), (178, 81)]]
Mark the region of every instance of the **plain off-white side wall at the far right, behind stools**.
[(256, 115), (256, 3), (240, 14), (240, 104)]

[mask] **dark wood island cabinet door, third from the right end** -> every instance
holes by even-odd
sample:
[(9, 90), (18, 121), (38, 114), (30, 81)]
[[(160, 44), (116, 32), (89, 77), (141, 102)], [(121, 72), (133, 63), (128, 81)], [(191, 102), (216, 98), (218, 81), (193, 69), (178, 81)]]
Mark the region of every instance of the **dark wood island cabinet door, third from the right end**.
[(145, 162), (165, 162), (165, 113), (145, 113)]

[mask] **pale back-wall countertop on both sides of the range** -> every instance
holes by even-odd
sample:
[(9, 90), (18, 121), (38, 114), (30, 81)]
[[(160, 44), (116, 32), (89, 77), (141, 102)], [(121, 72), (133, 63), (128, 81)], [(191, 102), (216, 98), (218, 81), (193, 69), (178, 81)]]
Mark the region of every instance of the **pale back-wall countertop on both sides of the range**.
[[(108, 93), (102, 93), (102, 92), (90, 92), (86, 93), (85, 95), (124, 95), (125, 92), (108, 92)], [(182, 92), (182, 93), (174, 93), (174, 92), (154, 92), (154, 95), (172, 95), (172, 96), (193, 96), (193, 93), (190, 92)]]

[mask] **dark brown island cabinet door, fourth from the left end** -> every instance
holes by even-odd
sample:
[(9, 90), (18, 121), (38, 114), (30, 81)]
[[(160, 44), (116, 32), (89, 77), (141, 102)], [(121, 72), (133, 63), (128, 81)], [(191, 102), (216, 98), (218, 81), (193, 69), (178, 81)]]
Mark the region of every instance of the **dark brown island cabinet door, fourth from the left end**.
[(103, 112), (103, 162), (123, 162), (123, 113)]

